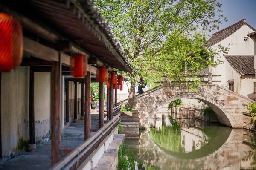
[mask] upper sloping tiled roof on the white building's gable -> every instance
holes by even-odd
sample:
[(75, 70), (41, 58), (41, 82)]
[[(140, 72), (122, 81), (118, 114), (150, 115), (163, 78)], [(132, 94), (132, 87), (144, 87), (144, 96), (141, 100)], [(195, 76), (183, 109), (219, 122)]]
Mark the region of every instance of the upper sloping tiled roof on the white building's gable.
[(230, 35), (232, 35), (234, 32), (236, 32), (239, 28), (241, 28), (241, 26), (243, 25), (247, 25), (249, 26), (251, 29), (253, 29), (254, 31), (256, 31), (256, 29), (254, 29), (252, 26), (250, 26), (249, 24), (246, 23), (246, 20), (243, 19), (235, 24), (233, 24), (232, 26), (229, 26), (225, 29), (222, 29), (221, 31), (218, 31), (214, 34), (212, 34), (212, 37), (207, 40), (206, 44), (207, 46), (213, 46), (216, 43), (220, 42), (221, 40), (224, 40), (225, 38), (229, 37)]

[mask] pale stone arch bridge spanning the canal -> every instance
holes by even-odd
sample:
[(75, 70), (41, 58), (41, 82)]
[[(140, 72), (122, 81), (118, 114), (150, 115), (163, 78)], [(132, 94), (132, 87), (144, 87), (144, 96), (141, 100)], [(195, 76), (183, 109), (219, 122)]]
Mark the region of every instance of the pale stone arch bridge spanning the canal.
[(164, 84), (136, 95), (134, 108), (139, 111), (140, 127), (148, 128), (154, 115), (166, 104), (179, 98), (195, 98), (213, 109), (221, 124), (243, 128), (242, 104), (255, 102), (216, 84), (201, 85), (195, 89), (189, 86)]

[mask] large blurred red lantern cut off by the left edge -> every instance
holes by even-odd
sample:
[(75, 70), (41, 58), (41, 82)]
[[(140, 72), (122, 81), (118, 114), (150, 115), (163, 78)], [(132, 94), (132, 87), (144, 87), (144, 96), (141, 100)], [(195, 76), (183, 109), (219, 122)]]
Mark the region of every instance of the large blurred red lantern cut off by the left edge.
[(8, 72), (19, 66), (22, 56), (21, 24), (11, 15), (0, 13), (0, 72)]

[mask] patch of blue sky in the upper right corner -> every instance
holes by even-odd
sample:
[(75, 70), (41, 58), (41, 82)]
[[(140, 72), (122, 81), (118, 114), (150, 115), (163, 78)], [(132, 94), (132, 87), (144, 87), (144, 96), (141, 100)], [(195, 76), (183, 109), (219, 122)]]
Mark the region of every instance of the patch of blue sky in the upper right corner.
[[(227, 17), (227, 22), (222, 19), (220, 29), (237, 23), (242, 19), (246, 19), (247, 24), (256, 29), (256, 0), (218, 0), (221, 4), (221, 10), (224, 17)], [(209, 34), (218, 32), (214, 30)]]

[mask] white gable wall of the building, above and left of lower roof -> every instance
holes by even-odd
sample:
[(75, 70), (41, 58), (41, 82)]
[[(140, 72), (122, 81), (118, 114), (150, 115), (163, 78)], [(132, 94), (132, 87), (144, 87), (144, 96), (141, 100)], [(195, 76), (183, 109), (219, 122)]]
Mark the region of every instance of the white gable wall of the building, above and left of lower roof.
[[(228, 47), (228, 54), (230, 55), (254, 55), (253, 40), (249, 38), (247, 42), (244, 41), (244, 37), (246, 37), (246, 35), (250, 32), (254, 32), (253, 29), (251, 29), (247, 25), (243, 25), (239, 30), (237, 30), (221, 42), (215, 44), (214, 46), (221, 44), (221, 46)], [(229, 75), (229, 73), (223, 73), (226, 71), (226, 66), (228, 63), (222, 53), (220, 54), (220, 56), (221, 61), (224, 61), (224, 64), (218, 65), (216, 68), (212, 68), (212, 75), (221, 75), (221, 77), (213, 77), (212, 80), (221, 80), (221, 82), (213, 83), (220, 86), (225, 86), (228, 80), (226, 75)]]

